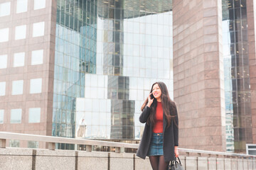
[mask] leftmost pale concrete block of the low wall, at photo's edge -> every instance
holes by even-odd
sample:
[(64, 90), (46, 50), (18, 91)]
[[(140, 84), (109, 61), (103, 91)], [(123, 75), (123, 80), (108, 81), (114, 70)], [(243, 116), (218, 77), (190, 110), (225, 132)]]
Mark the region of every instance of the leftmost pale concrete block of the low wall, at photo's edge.
[(0, 169), (32, 169), (33, 149), (1, 148)]

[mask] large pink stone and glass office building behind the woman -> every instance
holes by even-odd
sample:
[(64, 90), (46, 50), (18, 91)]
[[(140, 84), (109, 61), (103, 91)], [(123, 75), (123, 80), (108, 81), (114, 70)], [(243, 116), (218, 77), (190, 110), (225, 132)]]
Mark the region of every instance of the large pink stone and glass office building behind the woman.
[(0, 0), (0, 130), (139, 142), (140, 107), (164, 81), (181, 147), (245, 152), (253, 11), (252, 0)]

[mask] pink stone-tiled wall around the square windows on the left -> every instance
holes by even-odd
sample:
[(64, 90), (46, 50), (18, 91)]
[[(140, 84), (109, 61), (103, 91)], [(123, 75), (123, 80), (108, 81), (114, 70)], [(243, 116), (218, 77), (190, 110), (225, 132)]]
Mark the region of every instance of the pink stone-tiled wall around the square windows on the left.
[[(0, 17), (0, 29), (9, 28), (9, 41), (0, 43), (0, 55), (8, 55), (7, 68), (0, 69), (0, 81), (6, 81), (6, 95), (0, 96), (0, 109), (4, 109), (0, 131), (51, 135), (56, 1), (46, 0), (46, 8), (33, 10), (33, 0), (28, 0), (28, 11), (23, 13), (16, 13), (16, 0), (10, 1), (10, 15)], [(33, 38), (33, 23), (42, 21), (45, 22), (44, 35)], [(26, 39), (15, 40), (15, 27), (21, 25), (26, 25)], [(33, 50), (43, 50), (43, 64), (31, 65)], [(13, 67), (16, 52), (25, 52), (23, 67)], [(30, 94), (30, 79), (36, 78), (42, 78), (42, 93)], [(23, 79), (23, 94), (11, 95), (12, 81), (20, 79)], [(28, 123), (28, 109), (32, 107), (41, 108), (41, 123)], [(23, 110), (19, 124), (10, 123), (13, 108)], [(21, 142), (20, 147), (27, 147), (27, 142)], [(45, 147), (45, 143), (41, 142), (40, 147)]]

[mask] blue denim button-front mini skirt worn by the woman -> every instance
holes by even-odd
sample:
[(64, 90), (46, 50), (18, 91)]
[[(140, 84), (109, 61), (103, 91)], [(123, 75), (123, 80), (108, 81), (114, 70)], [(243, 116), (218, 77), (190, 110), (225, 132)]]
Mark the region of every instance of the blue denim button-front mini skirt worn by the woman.
[(147, 156), (164, 155), (163, 133), (153, 133), (149, 145)]

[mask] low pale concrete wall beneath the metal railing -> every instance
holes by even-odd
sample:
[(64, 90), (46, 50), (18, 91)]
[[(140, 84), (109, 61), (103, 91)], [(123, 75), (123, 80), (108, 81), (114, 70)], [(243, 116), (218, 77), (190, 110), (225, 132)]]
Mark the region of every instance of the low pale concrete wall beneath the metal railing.
[[(256, 170), (255, 159), (180, 157), (184, 170)], [(0, 169), (149, 170), (149, 159), (135, 154), (48, 149), (0, 149)]]

